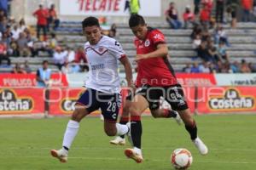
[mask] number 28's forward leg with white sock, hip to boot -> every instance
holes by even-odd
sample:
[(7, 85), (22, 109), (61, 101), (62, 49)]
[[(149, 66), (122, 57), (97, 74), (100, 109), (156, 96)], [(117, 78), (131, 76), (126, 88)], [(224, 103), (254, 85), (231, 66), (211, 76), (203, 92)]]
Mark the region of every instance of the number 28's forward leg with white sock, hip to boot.
[(94, 100), (94, 98), (91, 98), (91, 96), (95, 96), (93, 94), (95, 94), (95, 92), (91, 89), (86, 90), (84, 94), (82, 94), (75, 105), (71, 120), (67, 123), (61, 150), (50, 150), (51, 155), (58, 158), (61, 162), (67, 161), (68, 150), (79, 132), (79, 122), (84, 116), (89, 115), (91, 111), (96, 110), (96, 105), (90, 105)]

